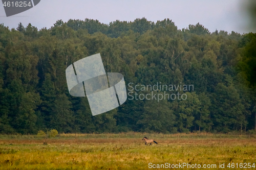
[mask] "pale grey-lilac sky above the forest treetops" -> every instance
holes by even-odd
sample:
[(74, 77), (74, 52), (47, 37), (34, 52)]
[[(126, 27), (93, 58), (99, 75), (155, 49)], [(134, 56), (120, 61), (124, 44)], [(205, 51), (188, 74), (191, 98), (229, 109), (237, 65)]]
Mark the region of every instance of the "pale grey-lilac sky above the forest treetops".
[(240, 34), (255, 32), (249, 28), (249, 17), (245, 0), (41, 0), (35, 7), (6, 17), (0, 5), (0, 23), (9, 28), (17, 28), (19, 22), (24, 26), (31, 23), (39, 29), (51, 28), (62, 19), (98, 19), (102, 23), (115, 20), (134, 21), (145, 17), (150, 21), (172, 19), (178, 29), (200, 22), (210, 32), (224, 30)]

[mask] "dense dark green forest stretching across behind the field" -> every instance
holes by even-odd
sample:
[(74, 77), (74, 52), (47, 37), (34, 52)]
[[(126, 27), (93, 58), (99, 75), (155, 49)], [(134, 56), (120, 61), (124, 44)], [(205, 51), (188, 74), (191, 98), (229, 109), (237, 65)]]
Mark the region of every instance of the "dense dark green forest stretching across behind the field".
[[(106, 72), (133, 85), (193, 85), (186, 100), (127, 100), (92, 116), (71, 96), (66, 68), (100, 53)], [(256, 34), (146, 18), (108, 25), (58, 20), (50, 29), (0, 25), (0, 133), (222, 132), (254, 130)], [(146, 93), (148, 91), (138, 91)], [(163, 93), (164, 91), (154, 91)], [(172, 94), (176, 91), (165, 91)]]

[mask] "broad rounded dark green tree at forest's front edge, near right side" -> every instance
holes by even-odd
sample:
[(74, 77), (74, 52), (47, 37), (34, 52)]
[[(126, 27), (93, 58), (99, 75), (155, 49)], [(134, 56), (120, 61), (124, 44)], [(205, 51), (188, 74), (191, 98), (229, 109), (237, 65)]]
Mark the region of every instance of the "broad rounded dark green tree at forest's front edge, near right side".
[(225, 86), (223, 83), (219, 83), (215, 93), (211, 95), (211, 103), (210, 114), (214, 119), (215, 130), (222, 132), (239, 130), (242, 122), (243, 125), (247, 124), (243, 114), (244, 105), (232, 84)]

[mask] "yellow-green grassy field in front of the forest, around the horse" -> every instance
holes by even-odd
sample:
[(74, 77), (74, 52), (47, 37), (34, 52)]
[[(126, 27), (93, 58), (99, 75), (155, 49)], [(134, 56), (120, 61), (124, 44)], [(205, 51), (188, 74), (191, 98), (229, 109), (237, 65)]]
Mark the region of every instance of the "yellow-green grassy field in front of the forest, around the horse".
[[(159, 144), (145, 146), (144, 136)], [(172, 164), (173, 169), (190, 169), (189, 165), (195, 169), (193, 165), (198, 164), (198, 169), (232, 169), (232, 163), (235, 169), (256, 169), (256, 136), (121, 133), (60, 134), (44, 139), (0, 135), (0, 169), (153, 169), (153, 164), (165, 163), (170, 169)], [(180, 168), (179, 163), (189, 165)], [(225, 168), (220, 168), (223, 163)], [(255, 168), (248, 168), (248, 163), (255, 163)]]

